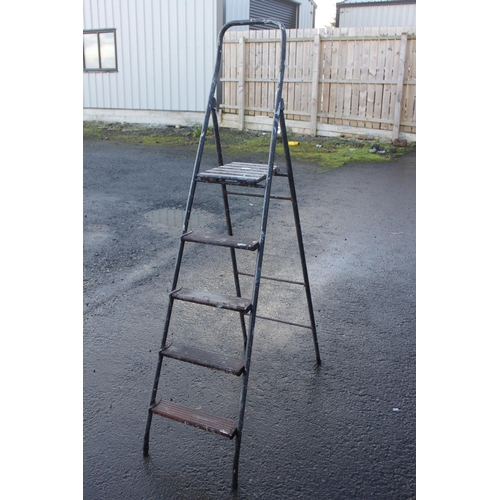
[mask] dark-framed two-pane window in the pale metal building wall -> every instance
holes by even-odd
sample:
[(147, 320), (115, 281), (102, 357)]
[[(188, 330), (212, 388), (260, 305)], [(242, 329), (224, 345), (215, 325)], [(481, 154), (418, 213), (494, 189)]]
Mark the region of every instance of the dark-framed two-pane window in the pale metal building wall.
[(83, 71), (118, 71), (115, 29), (83, 32)]

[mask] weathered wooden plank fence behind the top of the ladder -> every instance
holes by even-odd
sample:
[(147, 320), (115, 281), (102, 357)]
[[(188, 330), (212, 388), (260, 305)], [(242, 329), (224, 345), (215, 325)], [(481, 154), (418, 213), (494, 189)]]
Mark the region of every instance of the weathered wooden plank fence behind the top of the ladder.
[[(221, 126), (271, 130), (280, 32), (228, 31)], [(416, 139), (416, 30), (287, 30), (283, 98), (298, 134)]]

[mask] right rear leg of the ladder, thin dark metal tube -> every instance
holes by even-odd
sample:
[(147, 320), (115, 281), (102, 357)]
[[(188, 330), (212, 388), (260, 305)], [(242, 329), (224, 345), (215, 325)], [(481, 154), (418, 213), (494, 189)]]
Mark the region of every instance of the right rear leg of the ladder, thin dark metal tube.
[(312, 305), (312, 297), (311, 297), (311, 287), (309, 283), (309, 274), (307, 272), (307, 263), (306, 263), (306, 255), (304, 251), (304, 240), (302, 238), (302, 228), (300, 224), (300, 216), (299, 216), (299, 206), (297, 203), (297, 193), (295, 191), (295, 181), (293, 177), (292, 170), (292, 159), (290, 156), (290, 148), (288, 146), (288, 137), (286, 132), (286, 124), (285, 124), (285, 114), (284, 114), (284, 102), (281, 101), (280, 106), (280, 123), (281, 123), (281, 135), (283, 138), (283, 148), (285, 150), (285, 159), (288, 170), (288, 184), (290, 186), (290, 196), (292, 198), (292, 207), (293, 207), (293, 216), (295, 220), (295, 231), (297, 233), (297, 242), (299, 246), (299, 254), (300, 254), (300, 263), (302, 266), (302, 275), (304, 278), (305, 290), (306, 290), (306, 299), (307, 299), (307, 308), (309, 310), (309, 318), (311, 321), (311, 330), (314, 341), (314, 351), (316, 353), (316, 363), (321, 365), (321, 358), (319, 354), (319, 345), (318, 345), (318, 336), (316, 332), (316, 322), (314, 320), (314, 310)]

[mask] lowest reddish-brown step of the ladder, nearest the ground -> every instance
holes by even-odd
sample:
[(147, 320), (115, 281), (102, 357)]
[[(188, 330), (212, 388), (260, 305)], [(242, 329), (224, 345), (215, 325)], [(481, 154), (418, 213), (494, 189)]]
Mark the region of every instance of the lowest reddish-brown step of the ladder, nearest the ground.
[(151, 412), (182, 424), (192, 425), (204, 431), (214, 432), (229, 439), (233, 439), (237, 431), (237, 424), (234, 420), (189, 408), (172, 401), (165, 401), (164, 399), (153, 405)]

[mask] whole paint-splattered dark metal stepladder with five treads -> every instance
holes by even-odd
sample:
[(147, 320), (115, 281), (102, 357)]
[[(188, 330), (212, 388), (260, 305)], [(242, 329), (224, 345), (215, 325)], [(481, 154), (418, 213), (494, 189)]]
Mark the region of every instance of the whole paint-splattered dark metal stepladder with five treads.
[[(217, 102), (215, 99), (216, 86), (218, 81), (218, 74), (222, 57), (222, 41), (224, 33), (234, 26), (250, 26), (250, 25), (266, 25), (268, 27), (277, 27), (281, 31), (281, 59), (280, 59), (280, 72), (276, 92), (276, 101), (273, 117), (273, 128), (271, 134), (271, 141), (269, 147), (268, 164), (254, 164), (254, 163), (239, 163), (231, 162), (224, 163), (222, 158), (222, 148), (219, 136), (218, 119), (217, 119)], [(196, 160), (194, 164), (191, 185), (189, 189), (189, 196), (186, 204), (186, 211), (184, 223), (182, 227), (182, 235), (180, 237), (179, 250), (175, 264), (174, 277), (172, 282), (171, 293), (169, 294), (169, 302), (167, 308), (167, 315), (161, 341), (161, 349), (158, 354), (158, 364), (155, 374), (153, 392), (151, 396), (150, 407), (148, 411), (148, 418), (146, 424), (146, 432), (144, 435), (143, 454), (149, 454), (149, 435), (153, 415), (160, 415), (184, 424), (188, 424), (205, 431), (209, 431), (220, 436), (227, 437), (235, 440), (233, 470), (232, 470), (232, 487), (236, 489), (238, 486), (238, 464), (240, 456), (241, 438), (243, 431), (243, 421), (245, 415), (245, 404), (247, 399), (248, 381), (250, 375), (250, 361), (252, 358), (252, 345), (254, 338), (255, 323), (259, 319), (273, 319), (257, 315), (257, 304), (259, 299), (259, 287), (261, 279), (270, 279), (275, 281), (286, 281), (288, 283), (298, 283), (304, 287), (305, 299), (307, 301), (307, 308), (309, 313), (309, 325), (297, 325), (296, 323), (289, 323), (287, 321), (274, 319), (279, 323), (285, 323), (295, 326), (303, 326), (310, 329), (312, 333), (314, 350), (316, 355), (316, 363), (321, 364), (318, 340), (316, 334), (316, 326), (314, 321), (314, 313), (311, 299), (311, 291), (309, 286), (309, 278), (307, 274), (306, 258), (304, 254), (304, 245), (302, 239), (302, 231), (299, 220), (299, 211), (297, 206), (297, 198), (295, 192), (295, 184), (292, 172), (292, 163), (290, 158), (290, 151), (288, 147), (287, 131), (284, 118), (284, 103), (281, 97), (283, 89), (283, 78), (285, 70), (285, 55), (286, 55), (286, 31), (282, 23), (273, 20), (244, 20), (244, 21), (231, 21), (225, 24), (218, 37), (218, 51), (216, 58), (216, 65), (210, 94), (208, 99), (207, 110), (198, 145)], [(218, 166), (209, 168), (205, 171), (200, 171), (201, 158), (205, 144), (206, 134), (208, 130), (209, 120), (212, 118), (213, 133), (217, 149)], [(278, 141), (278, 126), (281, 128), (282, 143), (284, 147), (284, 154), (286, 160), (286, 168), (281, 169), (274, 163), (276, 143)], [(273, 178), (283, 178), (288, 180), (289, 196), (274, 196), (271, 194), (271, 185)], [(196, 187), (202, 183), (216, 183), (222, 186), (222, 197), (225, 209), (226, 227), (227, 232), (222, 235), (207, 235), (200, 234), (199, 231), (191, 231), (189, 228), (190, 215), (193, 207)], [(243, 193), (248, 196), (260, 196), (263, 199), (261, 227), (257, 235), (251, 237), (240, 237), (233, 234), (231, 215), (229, 210), (229, 196), (231, 194), (239, 194), (241, 192), (230, 192), (228, 186), (234, 189), (244, 189), (250, 191)], [(260, 193), (255, 194), (255, 189), (260, 188)], [(251, 194), (253, 191), (254, 194)], [(263, 194), (262, 194), (263, 191)], [(303, 281), (287, 281), (278, 278), (262, 276), (262, 263), (264, 256), (264, 243), (266, 239), (266, 227), (268, 221), (269, 205), (272, 198), (289, 200), (292, 205), (293, 216), (296, 226), (297, 242), (299, 247), (300, 261), (302, 267)], [(181, 270), (184, 247), (186, 243), (189, 244), (202, 244), (213, 245), (217, 247), (229, 248), (232, 270), (234, 275), (235, 295), (223, 295), (220, 293), (213, 293), (207, 291), (195, 290), (186, 288), (184, 286), (178, 287), (179, 273)], [(238, 271), (236, 254), (237, 251), (248, 251), (256, 253), (255, 273), (247, 274)], [(252, 276), (253, 291), (251, 298), (244, 298), (241, 294), (240, 279), (241, 275)], [(177, 345), (170, 342), (169, 327), (171, 324), (171, 317), (173, 305), (176, 301), (184, 301), (188, 303), (202, 304), (205, 306), (217, 307), (219, 309), (234, 311), (239, 314), (240, 327), (243, 336), (243, 349), (244, 356), (241, 358), (234, 358), (215, 353), (206, 352), (196, 346)], [(248, 326), (247, 326), (248, 323)], [(214, 329), (216, 332), (217, 330)], [(217, 335), (214, 333), (214, 335)], [(175, 403), (167, 398), (157, 398), (157, 391), (160, 381), (160, 373), (165, 358), (175, 359), (186, 363), (192, 363), (202, 367), (207, 367), (213, 370), (219, 370), (230, 375), (242, 377), (242, 389), (239, 402), (239, 416), (237, 419), (229, 419), (222, 416), (213, 415), (200, 409), (190, 408), (179, 403)]]

